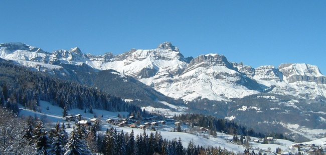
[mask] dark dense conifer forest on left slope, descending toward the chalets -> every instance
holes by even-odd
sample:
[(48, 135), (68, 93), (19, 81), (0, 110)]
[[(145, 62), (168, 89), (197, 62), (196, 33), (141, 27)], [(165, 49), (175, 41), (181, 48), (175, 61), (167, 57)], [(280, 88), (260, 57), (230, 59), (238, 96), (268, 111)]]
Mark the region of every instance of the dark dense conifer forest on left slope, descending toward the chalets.
[(120, 97), (112, 96), (99, 89), (77, 82), (53, 78), (42, 72), (31, 71), (5, 60), (0, 62), (1, 103), (18, 112), (17, 103), (26, 108), (37, 109), (40, 100), (62, 108), (97, 108), (109, 111), (141, 111), (135, 105), (125, 103)]

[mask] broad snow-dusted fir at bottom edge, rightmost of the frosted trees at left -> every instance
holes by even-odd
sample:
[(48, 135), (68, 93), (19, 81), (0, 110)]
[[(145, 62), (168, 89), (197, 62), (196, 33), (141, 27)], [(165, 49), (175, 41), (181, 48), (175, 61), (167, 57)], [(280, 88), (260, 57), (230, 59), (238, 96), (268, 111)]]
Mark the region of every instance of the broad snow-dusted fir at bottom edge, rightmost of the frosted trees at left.
[(78, 134), (75, 128), (73, 128), (70, 133), (68, 143), (65, 145), (65, 150), (65, 155), (86, 155), (92, 153), (87, 142)]

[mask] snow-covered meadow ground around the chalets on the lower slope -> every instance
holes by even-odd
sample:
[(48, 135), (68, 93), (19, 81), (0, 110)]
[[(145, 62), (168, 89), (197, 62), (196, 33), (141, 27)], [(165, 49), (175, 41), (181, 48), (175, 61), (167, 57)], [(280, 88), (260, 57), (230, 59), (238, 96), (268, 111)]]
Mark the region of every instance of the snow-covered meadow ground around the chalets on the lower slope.
[[(169, 103), (166, 103), (166, 102), (162, 102), (162, 103), (169, 105)], [(20, 114), (24, 115), (24, 116), (37, 115), (38, 117), (42, 118), (46, 123), (49, 123), (50, 125), (53, 125), (55, 122), (58, 122), (58, 121), (59, 122), (67, 122), (62, 117), (63, 109), (61, 107), (54, 106), (51, 103), (46, 102), (46, 101), (40, 101), (40, 105), (41, 106), (39, 107), (39, 112), (27, 110), (27, 109), (24, 109), (21, 107)], [(49, 107), (48, 110), (47, 110), (47, 107)], [(178, 109), (179, 107), (176, 106), (175, 108)], [(84, 113), (84, 110), (81, 110), (81, 109), (71, 109), (68, 111), (68, 114), (75, 115), (78, 113), (82, 114), (82, 117), (85, 120), (88, 120), (88, 119), (94, 117), (94, 115), (96, 115), (97, 118), (99, 118), (102, 123), (102, 131), (100, 131), (100, 132), (105, 132), (105, 129), (108, 127), (111, 127), (111, 126), (116, 128), (117, 131), (119, 131), (119, 132), (121, 132), (123, 130), (123, 132), (130, 133), (131, 130), (133, 130), (135, 134), (140, 134), (141, 132), (144, 131), (143, 129), (139, 129), (139, 128), (120, 127), (120, 126), (115, 126), (115, 125), (105, 122), (105, 120), (108, 118), (116, 118), (117, 119), (118, 114), (127, 116), (128, 112), (110, 112), (110, 111), (98, 110), (98, 109), (93, 109), (93, 113), (89, 113), (88, 111), (86, 113)], [(103, 117), (102, 117), (102, 115), (103, 115)], [(74, 125), (74, 122), (71, 121), (70, 124)], [(184, 147), (187, 147), (188, 143), (190, 141), (194, 141), (196, 145), (216, 146), (216, 147), (221, 146), (221, 148), (226, 148), (226, 149), (232, 150), (234, 152), (243, 152), (245, 150), (245, 147), (243, 145), (238, 145), (238, 144), (231, 142), (233, 135), (228, 135), (225, 133), (217, 132), (217, 136), (213, 137), (212, 135), (207, 134), (207, 132), (196, 131), (195, 129), (190, 128), (190, 126), (188, 126), (186, 124), (181, 125), (182, 130), (187, 130), (191, 133), (173, 132), (174, 128), (175, 128), (174, 124), (159, 125), (159, 126), (155, 127), (155, 129), (160, 132), (160, 134), (162, 135), (163, 138), (179, 139), (179, 137), (181, 137)], [(69, 131), (71, 131), (71, 129), (67, 129), (67, 131), (69, 132)], [(150, 134), (150, 132), (155, 132), (155, 131), (146, 130), (147, 134)], [(254, 142), (254, 140), (259, 139), (256, 137), (250, 137), (250, 139), (251, 139), (249, 142), (250, 148), (251, 148), (251, 150), (254, 150), (255, 152), (268, 151), (268, 150), (275, 151), (277, 147), (280, 147), (284, 151), (291, 152), (291, 151), (293, 151), (293, 149), (292, 149), (293, 147), (291, 145), (295, 144), (294, 142), (284, 140), (284, 139), (274, 139), (273, 144), (272, 143), (270, 143), (270, 144), (256, 143), (256, 142)], [(262, 140), (262, 139), (259, 139), (259, 140)], [(316, 139), (316, 140), (307, 141), (307, 142), (303, 142), (303, 143), (307, 143), (307, 144), (315, 143), (316, 145), (323, 145), (326, 143), (326, 138)], [(296, 151), (296, 150), (294, 150), (294, 151)]]

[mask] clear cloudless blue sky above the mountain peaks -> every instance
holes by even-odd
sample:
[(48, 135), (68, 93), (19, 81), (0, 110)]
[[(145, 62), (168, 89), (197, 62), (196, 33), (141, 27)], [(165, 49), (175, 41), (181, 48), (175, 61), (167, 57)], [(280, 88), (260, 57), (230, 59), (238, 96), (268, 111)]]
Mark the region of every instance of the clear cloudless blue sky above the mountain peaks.
[(317, 65), (326, 74), (324, 0), (1, 0), (0, 42), (119, 54), (170, 41), (257, 67)]

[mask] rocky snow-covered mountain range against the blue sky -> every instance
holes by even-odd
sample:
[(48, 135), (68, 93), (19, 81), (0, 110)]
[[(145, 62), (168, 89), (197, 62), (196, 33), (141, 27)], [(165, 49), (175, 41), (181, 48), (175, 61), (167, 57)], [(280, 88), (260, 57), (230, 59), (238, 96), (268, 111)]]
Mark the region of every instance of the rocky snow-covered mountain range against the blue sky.
[(220, 54), (184, 57), (171, 42), (163, 42), (154, 49), (131, 49), (117, 55), (110, 52), (84, 54), (78, 47), (47, 52), (11, 42), (0, 44), (0, 57), (46, 70), (64, 70), (62, 64), (87, 64), (94, 70), (114, 69), (167, 96), (184, 100), (229, 100), (259, 92), (304, 99), (326, 96), (326, 76), (315, 65), (284, 63), (278, 68), (273, 65), (253, 68), (229, 62)]

